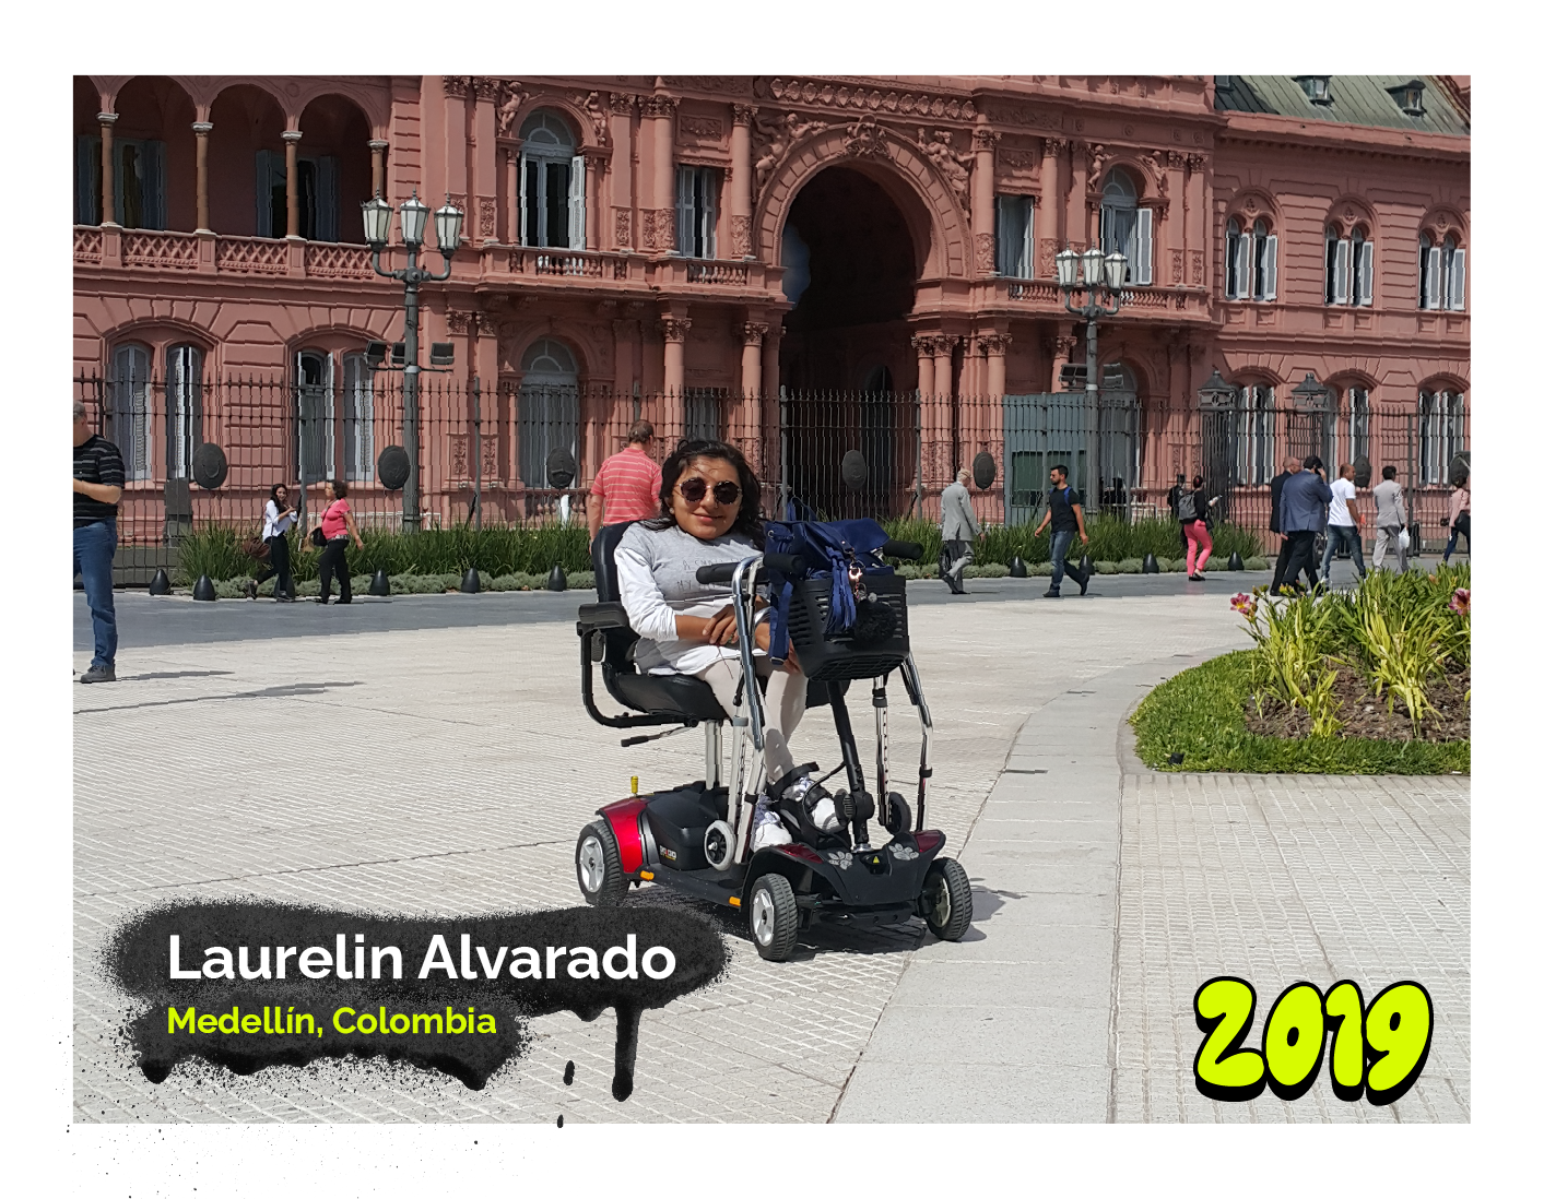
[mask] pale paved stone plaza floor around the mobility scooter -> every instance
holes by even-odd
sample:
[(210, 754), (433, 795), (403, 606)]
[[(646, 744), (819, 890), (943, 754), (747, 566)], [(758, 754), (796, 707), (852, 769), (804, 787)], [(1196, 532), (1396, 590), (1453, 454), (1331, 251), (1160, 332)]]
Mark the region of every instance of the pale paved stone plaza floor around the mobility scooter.
[[(763, 961), (733, 917), (727, 977), (645, 1012), (638, 1082), (611, 1099), (615, 1023), (533, 1022), (483, 1091), (380, 1063), (156, 1086), (102, 977), (116, 921), (261, 897), (468, 915), (581, 901), (579, 829), (701, 776), (701, 736), (621, 748), (579, 704), (573, 619), (591, 593), (357, 600), (350, 608), (119, 594), (119, 682), (76, 687), (76, 1119), (85, 1122), (1464, 1122), (1470, 1119), (1468, 778), (1158, 775), (1126, 716), (1161, 679), (1246, 647), (1227, 597), (1268, 576), (914, 583), (913, 647), (937, 725), (928, 824), (967, 867), (957, 944), (920, 921), (806, 937)], [(76, 668), (90, 620), (76, 596)], [(900, 688), (894, 688), (900, 693)], [(602, 701), (607, 704), (607, 701)], [(860, 739), (866, 721), (858, 722)], [(914, 789), (917, 730), (892, 707)], [(794, 741), (837, 762), (829, 713)], [(1397, 1103), (1203, 1097), (1197, 986), (1254, 983), (1258, 1046), (1288, 985), (1413, 978), (1436, 1034)], [(574, 1062), (573, 1085), (564, 1085)]]

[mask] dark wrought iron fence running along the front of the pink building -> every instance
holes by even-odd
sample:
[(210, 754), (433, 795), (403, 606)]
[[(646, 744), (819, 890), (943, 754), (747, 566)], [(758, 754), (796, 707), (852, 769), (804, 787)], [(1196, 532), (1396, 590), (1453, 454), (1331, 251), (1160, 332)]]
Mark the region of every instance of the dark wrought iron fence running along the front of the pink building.
[[(340, 383), (80, 375), (76, 395), (124, 452), (125, 545), (171, 546), (207, 523), (255, 526), (275, 483), (298, 489), (313, 515), (326, 478), (347, 485), (361, 526), (401, 526), (401, 494), (377, 477), (380, 452), (403, 438), (398, 375), (346, 370)], [(1464, 400), (1448, 393), (1403, 407), (1299, 412), (1241, 392), (1237, 406), (1201, 412), (1118, 389), (1096, 400), (1084, 392), (792, 390), (763, 398), (723, 389), (628, 395), (428, 377), (418, 421), (425, 523), (523, 523), (565, 511), (582, 518), (596, 469), (625, 448), (638, 420), (653, 424), (659, 457), (681, 437), (736, 444), (763, 481), (767, 514), (936, 518), (942, 489), (987, 454), (994, 478), (974, 503), (991, 523), (1038, 520), (1050, 468), (1065, 464), (1090, 511), (1124, 520), (1167, 517), (1175, 475), (1201, 474), (1209, 492), (1221, 495), (1221, 518), (1265, 532), (1271, 478), (1288, 457), (1317, 454), (1331, 472), (1356, 463), (1359, 481), (1368, 485), (1394, 466), (1428, 542), (1447, 512), (1450, 464), (1468, 451)], [(215, 491), (190, 478), (193, 451), (210, 441), (229, 461)], [(577, 466), (567, 491), (547, 485), (554, 449), (573, 454)]]

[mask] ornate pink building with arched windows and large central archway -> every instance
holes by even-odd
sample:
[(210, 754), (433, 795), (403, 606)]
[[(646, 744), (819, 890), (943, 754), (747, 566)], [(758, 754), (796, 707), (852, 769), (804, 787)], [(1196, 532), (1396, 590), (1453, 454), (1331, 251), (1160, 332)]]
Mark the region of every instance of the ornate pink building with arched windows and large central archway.
[[(77, 77), (74, 369), (130, 458), (125, 540), (250, 522), (300, 472), (384, 518), (397, 377), (363, 349), (401, 336), (401, 290), (358, 205), (417, 191), (468, 214), (425, 287), (425, 346), (455, 352), (425, 400), (442, 520), (474, 486), (488, 518), (540, 511), (545, 455), (582, 485), (635, 414), (832, 505), (854, 448), (892, 511), (980, 451), (996, 518), (1084, 451), (1107, 502), (1203, 463), (1258, 494), (1309, 372), (1305, 444), (1439, 488), (1468, 156), (1467, 77)], [(1090, 244), (1132, 269), (1093, 440), (1051, 427), (1084, 361), (1053, 255)], [(1209, 448), (1214, 369), (1238, 392)], [(187, 486), (205, 440), (219, 495)]]

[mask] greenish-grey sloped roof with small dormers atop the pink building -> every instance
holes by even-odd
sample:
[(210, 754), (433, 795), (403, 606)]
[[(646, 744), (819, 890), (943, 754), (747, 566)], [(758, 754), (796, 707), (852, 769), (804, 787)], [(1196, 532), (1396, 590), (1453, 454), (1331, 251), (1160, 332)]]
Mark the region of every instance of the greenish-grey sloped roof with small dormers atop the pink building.
[[(1468, 120), (1431, 76), (1329, 76), (1329, 103), (1314, 103), (1292, 76), (1217, 76), (1218, 113), (1271, 113), (1302, 120), (1339, 120), (1385, 130), (1468, 134)], [(1424, 116), (1411, 116), (1388, 93), (1425, 83)], [(1226, 83), (1226, 86), (1223, 86)]]

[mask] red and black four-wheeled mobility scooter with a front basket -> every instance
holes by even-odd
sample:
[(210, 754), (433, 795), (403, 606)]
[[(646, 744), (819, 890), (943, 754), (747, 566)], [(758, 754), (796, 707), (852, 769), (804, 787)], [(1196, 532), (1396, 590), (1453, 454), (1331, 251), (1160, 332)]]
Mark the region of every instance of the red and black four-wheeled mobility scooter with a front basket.
[[(699, 583), (729, 585), (726, 599), (733, 603), (738, 622), (743, 679), (757, 679), (752, 613), (758, 582), (774, 588), (774, 599), (781, 597), (775, 619), (784, 622), (808, 677), (806, 707), (829, 705), (840, 741), (841, 765), (837, 768), (845, 770), (846, 785), (834, 784), (832, 798), (841, 827), (821, 832), (800, 818), (797, 801), (787, 801), (777, 810), (792, 839), (755, 852), (750, 850), (750, 826), (764, 775), (761, 691), (743, 685), (738, 708), (726, 713), (701, 679), (639, 673), (630, 654), (638, 634), (619, 602), (613, 559), (627, 525), (601, 531), (591, 551), (599, 602), (581, 606), (577, 623), (585, 711), (608, 728), (678, 725), (665, 733), (624, 739), (624, 745), (701, 725), (706, 756), (701, 779), (607, 804), (598, 810), (599, 819), (579, 833), (574, 867), (579, 889), (591, 904), (616, 904), (628, 886), (669, 886), (743, 910), (757, 951), (772, 961), (787, 958), (800, 930), (815, 921), (899, 924), (922, 917), (942, 940), (957, 941), (965, 935), (971, 923), (970, 880), (957, 861), (939, 856), (943, 833), (926, 827), (933, 719), (911, 657), (906, 580), (883, 562), (885, 557), (916, 559), (922, 551), (916, 545), (885, 542), (877, 522), (846, 525), (865, 526), (865, 543), (882, 548), (849, 551), (849, 569), (841, 577), (835, 569), (806, 569), (804, 560), (777, 552), (755, 552), (738, 563), (698, 569)], [(778, 528), (769, 525), (769, 542)], [(784, 534), (797, 528), (781, 526)], [(852, 532), (840, 525), (821, 528)], [(845, 613), (852, 613), (854, 597), (857, 608), (866, 613), (851, 628), (831, 631), (834, 588), (835, 602), (848, 605)], [(774, 631), (774, 640), (777, 636)], [(608, 716), (596, 707), (596, 665), (607, 693), (628, 713)], [(896, 671), (922, 722), (916, 813), (899, 792), (891, 790), (886, 761), (886, 681)], [(846, 693), (854, 682), (868, 682), (871, 690), (877, 739), (872, 784), (865, 776), (848, 716)], [(835, 770), (820, 781), (831, 775)], [(874, 836), (871, 824), (888, 839)], [(879, 839), (885, 843), (874, 844)]]

